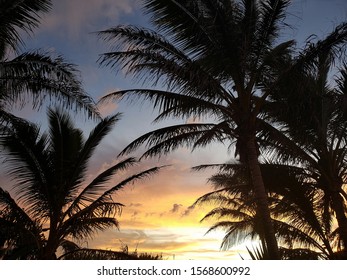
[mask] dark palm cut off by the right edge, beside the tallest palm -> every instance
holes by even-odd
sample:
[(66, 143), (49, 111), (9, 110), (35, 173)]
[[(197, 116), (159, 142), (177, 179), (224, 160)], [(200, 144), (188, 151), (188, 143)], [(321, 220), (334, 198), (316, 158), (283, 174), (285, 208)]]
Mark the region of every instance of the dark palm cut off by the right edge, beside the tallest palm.
[[(281, 127), (282, 135), (272, 133), (269, 138), (272, 142), (277, 140), (277, 158), (310, 170), (310, 181), (324, 192), (324, 215), (327, 220), (336, 218), (347, 250), (347, 65), (342, 63), (335, 80), (329, 82), (340, 48), (347, 42), (345, 36), (338, 38), (339, 29), (346, 33), (347, 24), (337, 27), (324, 40), (311, 43), (305, 52), (316, 55), (302, 63), (294, 61), (297, 65), (292, 67), (287, 80), (278, 84), (278, 93), (273, 95), (270, 105), (275, 109), (269, 112)], [(316, 51), (324, 45), (324, 52)]]

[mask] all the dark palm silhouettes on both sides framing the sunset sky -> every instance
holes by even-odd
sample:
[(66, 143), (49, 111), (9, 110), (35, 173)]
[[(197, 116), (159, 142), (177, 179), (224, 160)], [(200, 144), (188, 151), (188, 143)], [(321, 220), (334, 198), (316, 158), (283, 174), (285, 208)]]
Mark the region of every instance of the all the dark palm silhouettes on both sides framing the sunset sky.
[[(99, 62), (150, 86), (100, 102), (148, 100), (156, 122), (183, 123), (144, 134), (121, 155), (143, 144), (144, 158), (227, 144), (237, 162), (195, 168), (219, 169), (209, 179), (214, 191), (194, 205), (217, 206), (202, 220), (217, 219), (209, 231), (225, 230), (222, 249), (250, 239), (259, 240), (247, 247), (252, 259), (347, 259), (347, 23), (296, 50), (293, 40), (280, 42), (290, 0), (142, 2), (157, 31), (121, 25), (99, 32), (112, 44)], [(129, 157), (85, 181), (89, 159), (120, 114), (102, 119), (76, 66), (62, 56), (20, 52), (22, 34), (51, 7), (44, 0), (0, 3), (0, 151), (15, 182), (14, 196), (0, 188), (0, 259), (162, 259), (127, 246), (78, 245), (118, 228), (123, 205), (112, 194), (161, 167), (109, 186), (138, 163)], [(64, 109), (48, 110), (45, 133), (12, 113), (48, 99)], [(65, 113), (72, 108), (99, 121), (86, 140)]]

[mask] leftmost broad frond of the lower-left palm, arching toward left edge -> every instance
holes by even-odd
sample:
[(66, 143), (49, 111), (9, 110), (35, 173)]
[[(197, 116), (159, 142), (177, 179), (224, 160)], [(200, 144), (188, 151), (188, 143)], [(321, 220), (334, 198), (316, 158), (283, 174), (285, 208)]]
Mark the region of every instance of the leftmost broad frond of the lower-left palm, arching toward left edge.
[(0, 142), (7, 154), (9, 175), (16, 181), (19, 200), (32, 205), (32, 211), (44, 218), (49, 201), (46, 175), (51, 174), (45, 150), (47, 136), (41, 136), (36, 125), (22, 121), (13, 123), (5, 134), (1, 134)]

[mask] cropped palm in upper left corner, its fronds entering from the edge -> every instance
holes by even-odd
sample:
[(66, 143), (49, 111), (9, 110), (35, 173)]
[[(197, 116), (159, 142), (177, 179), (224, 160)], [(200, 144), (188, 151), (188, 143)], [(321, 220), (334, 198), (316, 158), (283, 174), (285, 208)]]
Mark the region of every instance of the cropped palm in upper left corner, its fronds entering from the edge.
[[(28, 96), (33, 106), (45, 98), (55, 98), (68, 107), (86, 109), (98, 116), (93, 100), (84, 92), (76, 67), (61, 56), (42, 51), (19, 54), (23, 33), (39, 25), (40, 15), (51, 8), (47, 0), (3, 0), (0, 2), (0, 122), (11, 121), (15, 104), (25, 104)], [(11, 52), (17, 54), (12, 57)]]

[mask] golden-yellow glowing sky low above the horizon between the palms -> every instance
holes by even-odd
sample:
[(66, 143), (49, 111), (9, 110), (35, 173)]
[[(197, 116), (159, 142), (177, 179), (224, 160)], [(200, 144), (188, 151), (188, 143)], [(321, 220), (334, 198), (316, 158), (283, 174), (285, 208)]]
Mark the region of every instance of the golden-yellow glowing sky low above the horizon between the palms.
[[(240, 260), (244, 245), (221, 251), (224, 232), (205, 234), (213, 221), (200, 220), (214, 206), (192, 207), (198, 197), (212, 191), (207, 179), (214, 171), (192, 172), (189, 164), (170, 156), (164, 161), (175, 164), (117, 192), (115, 200), (125, 205), (118, 217), (119, 231), (102, 232), (88, 246), (119, 250), (126, 245), (130, 251), (162, 254), (164, 259)], [(149, 168), (147, 164), (142, 169)]]

